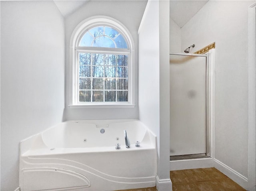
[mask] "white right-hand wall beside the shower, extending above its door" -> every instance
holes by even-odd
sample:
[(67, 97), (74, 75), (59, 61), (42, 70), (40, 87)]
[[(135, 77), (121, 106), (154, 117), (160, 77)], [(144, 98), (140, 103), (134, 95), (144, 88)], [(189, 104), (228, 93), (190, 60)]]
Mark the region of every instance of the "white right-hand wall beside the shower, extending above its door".
[(181, 29), (182, 49), (216, 42), (215, 158), (248, 170), (248, 7), (255, 1), (209, 1)]

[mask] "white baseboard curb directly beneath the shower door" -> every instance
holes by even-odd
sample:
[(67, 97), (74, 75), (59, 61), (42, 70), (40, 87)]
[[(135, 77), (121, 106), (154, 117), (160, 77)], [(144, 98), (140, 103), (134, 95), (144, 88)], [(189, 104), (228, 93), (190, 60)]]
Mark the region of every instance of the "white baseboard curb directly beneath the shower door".
[(193, 169), (193, 168), (210, 168), (210, 167), (214, 167), (212, 158), (170, 161), (170, 171)]

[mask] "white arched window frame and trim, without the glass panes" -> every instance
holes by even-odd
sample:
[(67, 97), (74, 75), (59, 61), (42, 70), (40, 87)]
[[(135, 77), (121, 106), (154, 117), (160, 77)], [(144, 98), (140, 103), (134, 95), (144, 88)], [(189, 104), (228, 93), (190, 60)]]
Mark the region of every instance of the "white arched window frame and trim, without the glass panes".
[[(128, 49), (79, 46), (83, 35), (91, 28), (106, 26), (117, 30), (126, 40)], [(79, 102), (79, 52), (128, 55), (128, 102)], [(104, 77), (103, 77), (104, 78)], [(134, 108), (134, 42), (128, 29), (106, 16), (96, 16), (82, 21), (70, 39), (70, 108)], [(103, 90), (105, 92), (105, 90)]]

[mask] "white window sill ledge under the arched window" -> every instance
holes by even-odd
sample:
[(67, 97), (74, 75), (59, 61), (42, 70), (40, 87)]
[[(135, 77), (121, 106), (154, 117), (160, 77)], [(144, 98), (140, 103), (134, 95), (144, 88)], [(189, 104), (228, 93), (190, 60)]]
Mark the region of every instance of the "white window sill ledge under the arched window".
[(95, 108), (134, 108), (134, 104), (76, 104), (68, 105), (70, 109), (95, 109)]

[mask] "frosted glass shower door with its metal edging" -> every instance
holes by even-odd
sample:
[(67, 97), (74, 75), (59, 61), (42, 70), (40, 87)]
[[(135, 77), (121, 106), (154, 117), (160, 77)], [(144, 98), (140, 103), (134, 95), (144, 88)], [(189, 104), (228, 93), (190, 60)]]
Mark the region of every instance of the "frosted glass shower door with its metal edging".
[(210, 157), (209, 54), (170, 54), (170, 161)]

